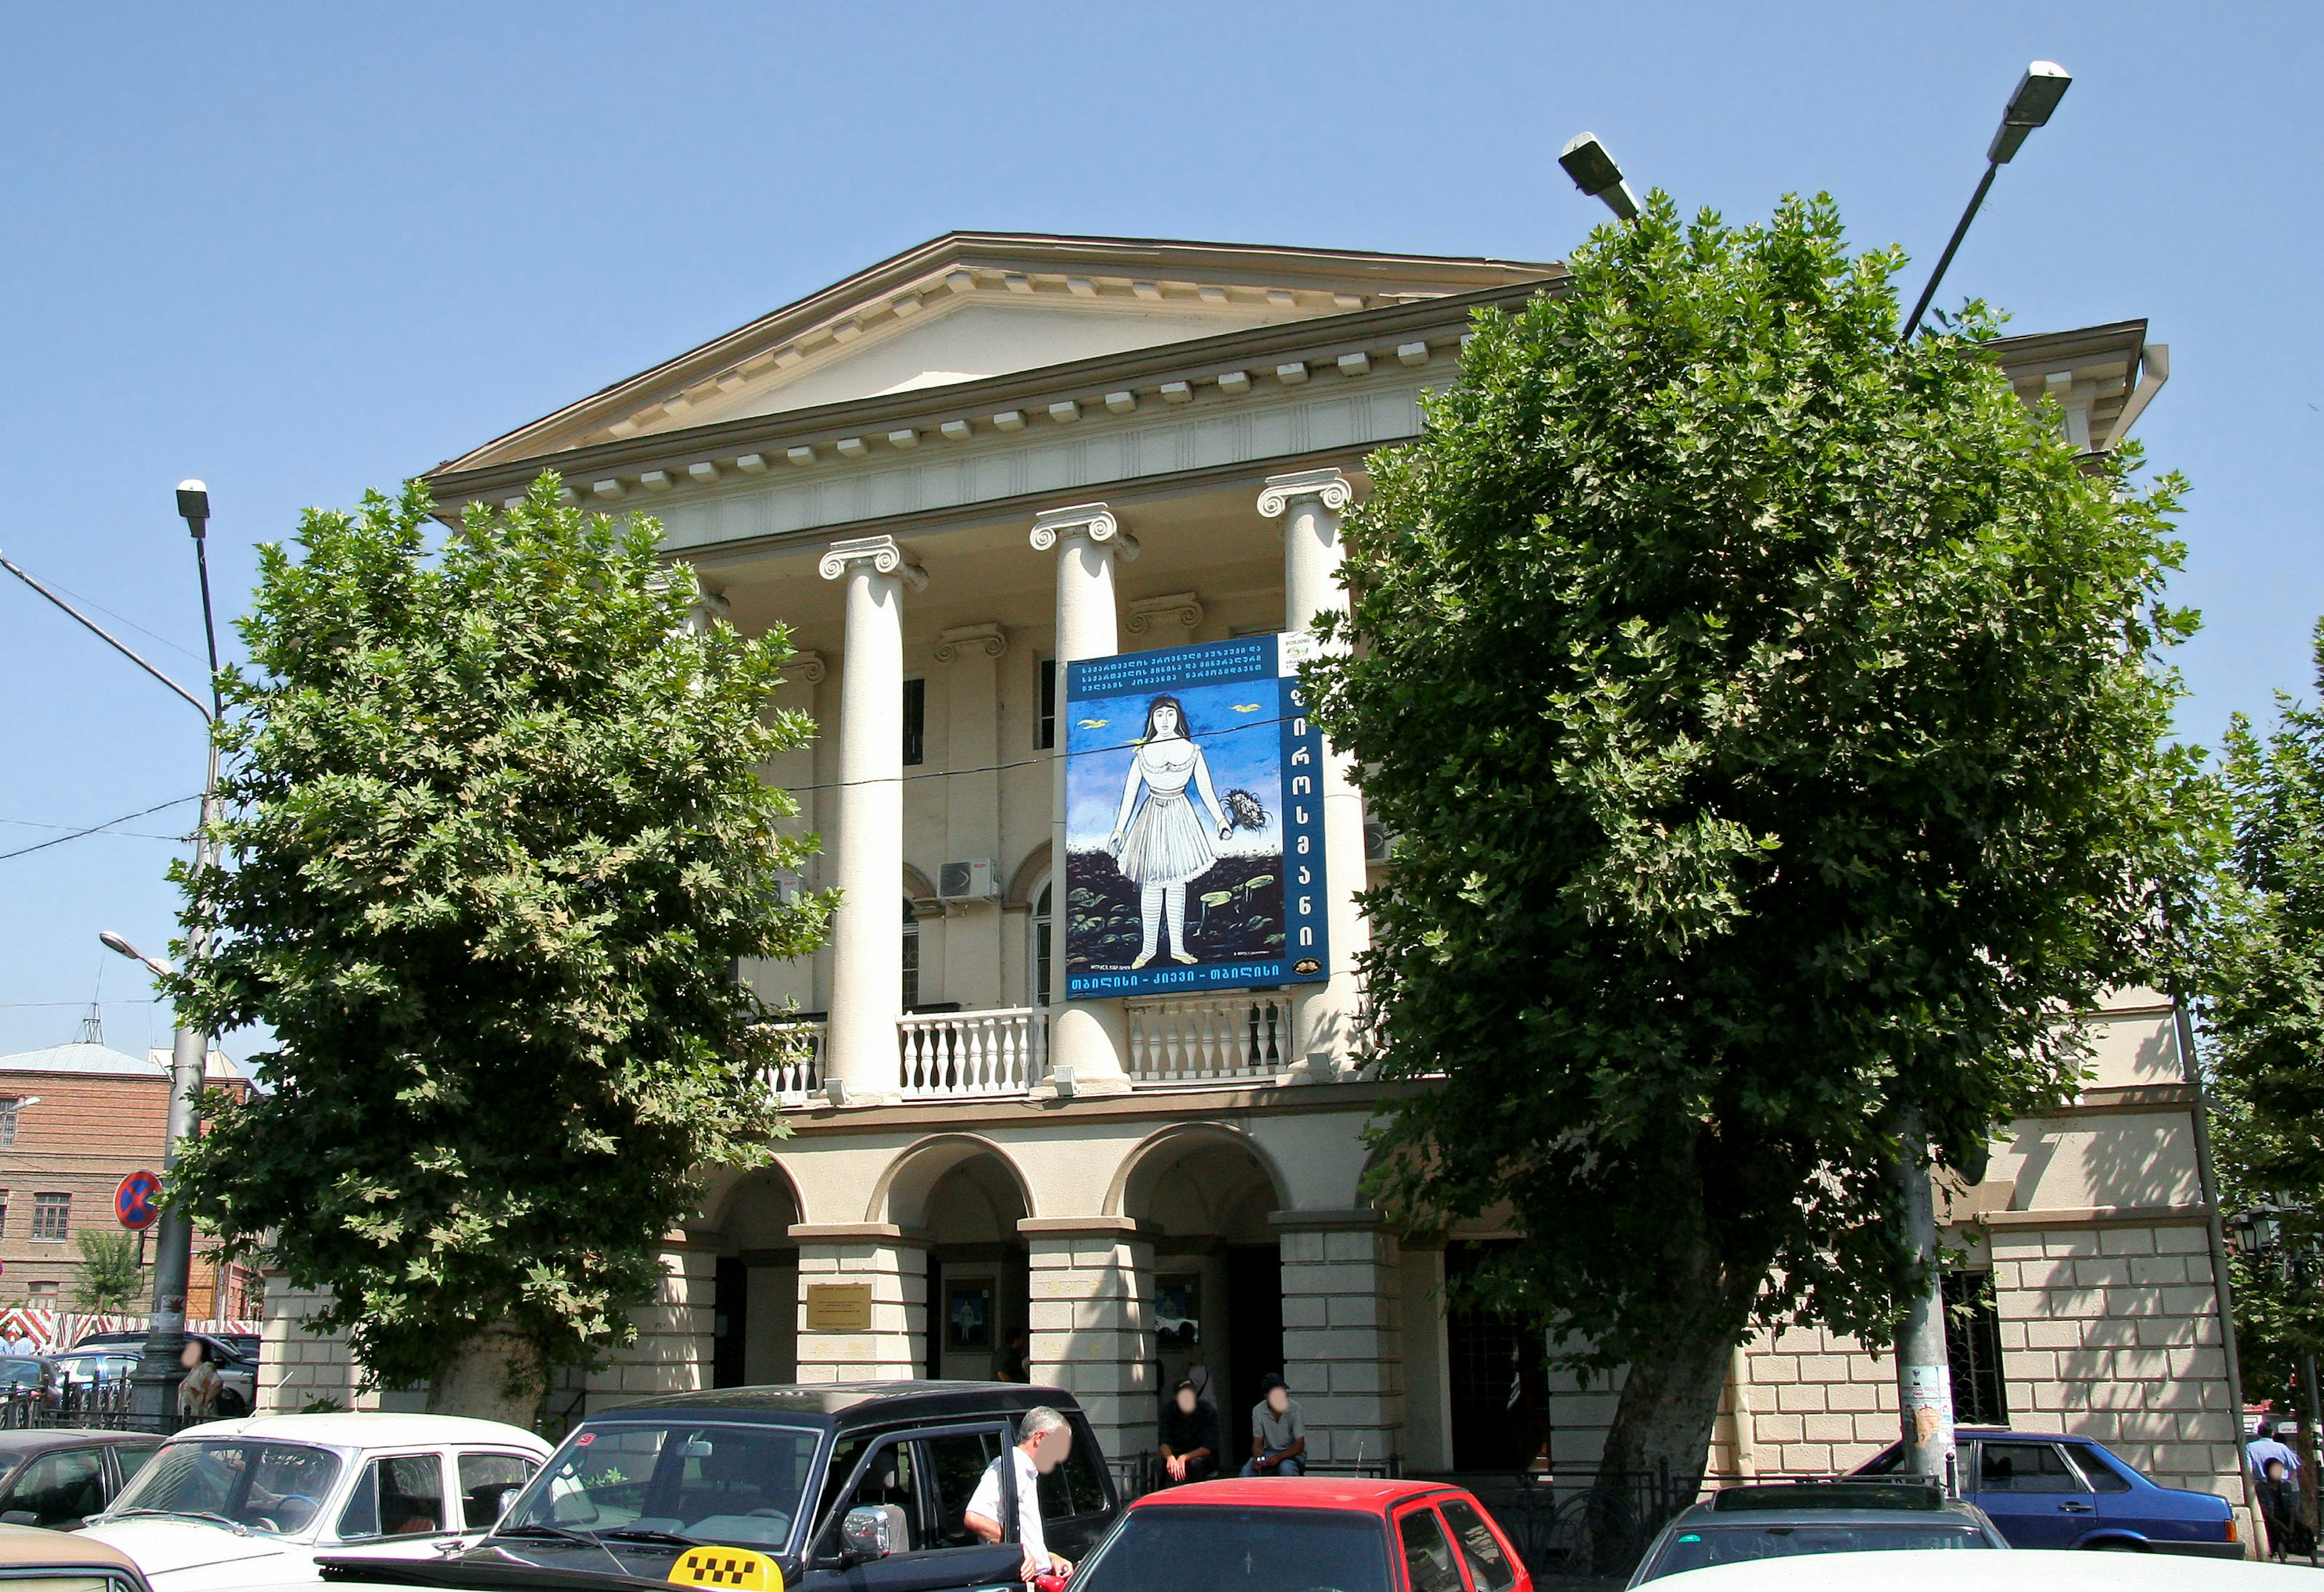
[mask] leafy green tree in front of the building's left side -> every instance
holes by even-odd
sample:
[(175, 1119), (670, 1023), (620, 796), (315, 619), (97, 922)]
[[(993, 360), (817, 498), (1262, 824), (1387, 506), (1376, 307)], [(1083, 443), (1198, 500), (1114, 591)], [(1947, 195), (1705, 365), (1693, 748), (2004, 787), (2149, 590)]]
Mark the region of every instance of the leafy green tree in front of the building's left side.
[(376, 1381), (507, 1350), (509, 1392), (625, 1343), (695, 1171), (783, 1134), (783, 1039), (739, 958), (811, 951), (811, 841), (758, 776), (788, 637), (690, 621), (697, 586), (541, 476), (432, 546), (416, 486), (260, 548), (230, 672), (221, 834), (179, 876), (221, 934), (191, 1020), (265, 1023), (270, 1085), (209, 1099), (177, 1197), (263, 1239)]

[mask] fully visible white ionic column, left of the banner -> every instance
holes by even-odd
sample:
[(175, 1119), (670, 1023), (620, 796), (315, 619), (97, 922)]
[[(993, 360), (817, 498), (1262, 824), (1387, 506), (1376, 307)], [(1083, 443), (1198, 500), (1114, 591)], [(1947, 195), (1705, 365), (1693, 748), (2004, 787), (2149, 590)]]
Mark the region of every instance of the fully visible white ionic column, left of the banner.
[(848, 1099), (883, 1099), (897, 1092), (904, 1016), (904, 588), (927, 586), (927, 572), (895, 537), (834, 542), (820, 569), (848, 588), (832, 858), (841, 895), (823, 1076)]

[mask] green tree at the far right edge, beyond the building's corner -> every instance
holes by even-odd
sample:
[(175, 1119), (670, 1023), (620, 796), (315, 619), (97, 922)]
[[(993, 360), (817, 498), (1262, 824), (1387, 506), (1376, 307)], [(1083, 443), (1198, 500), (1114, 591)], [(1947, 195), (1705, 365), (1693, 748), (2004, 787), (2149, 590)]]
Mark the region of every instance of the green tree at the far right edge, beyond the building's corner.
[[(2324, 623), (2315, 630), (2324, 690)], [(2222, 776), (2233, 846), (2203, 941), (2212, 1132), (2222, 1199), (2305, 1209), (2291, 1243), (2324, 1243), (2324, 711), (2287, 695), (2261, 734), (2236, 713)], [(2324, 1355), (2324, 1264), (2296, 1288), (2233, 1262), (2236, 1341), (2252, 1397), (2282, 1397), (2298, 1355)]]

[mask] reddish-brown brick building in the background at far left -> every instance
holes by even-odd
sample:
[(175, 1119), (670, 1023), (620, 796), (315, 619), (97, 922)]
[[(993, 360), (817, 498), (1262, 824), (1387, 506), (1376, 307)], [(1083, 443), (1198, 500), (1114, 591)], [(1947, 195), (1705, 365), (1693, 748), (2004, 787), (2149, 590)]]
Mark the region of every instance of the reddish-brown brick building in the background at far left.
[[(249, 1090), (221, 1050), (209, 1053), (207, 1076)], [(121, 1232), (114, 1190), (137, 1169), (160, 1171), (167, 1127), (167, 1050), (114, 1050), (88, 1023), (74, 1044), (0, 1055), (0, 1299), (74, 1308), (74, 1234)], [(195, 1239), (188, 1318), (244, 1315), (256, 1285), (249, 1267), (228, 1267), (221, 1299), (216, 1241)], [(151, 1288), (139, 1288), (130, 1306), (149, 1297)]]

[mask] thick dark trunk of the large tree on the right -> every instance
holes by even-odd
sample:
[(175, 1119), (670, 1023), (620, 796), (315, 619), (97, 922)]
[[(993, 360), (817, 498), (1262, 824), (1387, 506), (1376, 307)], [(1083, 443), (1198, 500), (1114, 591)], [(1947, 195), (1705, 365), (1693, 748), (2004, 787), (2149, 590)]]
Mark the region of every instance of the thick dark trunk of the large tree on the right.
[(1752, 1288), (1701, 1236), (1676, 1255), (1662, 1332), (1629, 1360), (1590, 1499), (1590, 1559), (1599, 1576), (1636, 1564), (1662, 1520), (1694, 1501)]

